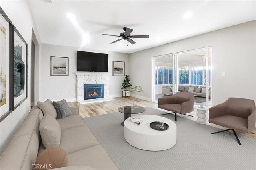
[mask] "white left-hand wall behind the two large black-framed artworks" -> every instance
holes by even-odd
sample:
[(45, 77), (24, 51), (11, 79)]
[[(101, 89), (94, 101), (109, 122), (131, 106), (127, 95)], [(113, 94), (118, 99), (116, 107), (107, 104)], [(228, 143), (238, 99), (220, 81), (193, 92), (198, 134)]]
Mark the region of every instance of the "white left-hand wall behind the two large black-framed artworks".
[[(22, 37), (28, 43), (28, 70), (31, 63), (31, 35), (32, 27), (38, 41), (40, 41), (34, 20), (27, 1), (0, 0), (0, 6), (18, 29)], [(41, 42), (41, 41), (40, 41)], [(0, 155), (6, 149), (8, 143), (19, 129), (26, 115), (30, 111), (30, 71), (28, 71), (28, 99), (17, 107), (0, 123)]]

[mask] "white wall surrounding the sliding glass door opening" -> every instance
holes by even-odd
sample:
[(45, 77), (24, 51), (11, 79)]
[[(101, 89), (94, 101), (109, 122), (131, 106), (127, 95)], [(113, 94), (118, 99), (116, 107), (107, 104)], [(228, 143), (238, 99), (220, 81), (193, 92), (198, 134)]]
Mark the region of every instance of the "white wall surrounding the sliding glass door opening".
[[(130, 54), (131, 83), (151, 98), (151, 58), (212, 46), (212, 104), (229, 97), (256, 101), (256, 20)], [(226, 76), (221, 76), (222, 71)]]

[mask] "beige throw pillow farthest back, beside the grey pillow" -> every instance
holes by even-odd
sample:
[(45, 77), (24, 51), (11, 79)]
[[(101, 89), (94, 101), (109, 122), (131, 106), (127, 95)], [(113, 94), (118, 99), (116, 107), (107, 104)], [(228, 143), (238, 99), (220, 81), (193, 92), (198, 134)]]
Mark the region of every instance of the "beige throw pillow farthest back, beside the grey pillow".
[(48, 114), (51, 115), (54, 119), (57, 119), (57, 111), (50, 99), (47, 99), (45, 102), (37, 102), (37, 106), (42, 110), (44, 115)]

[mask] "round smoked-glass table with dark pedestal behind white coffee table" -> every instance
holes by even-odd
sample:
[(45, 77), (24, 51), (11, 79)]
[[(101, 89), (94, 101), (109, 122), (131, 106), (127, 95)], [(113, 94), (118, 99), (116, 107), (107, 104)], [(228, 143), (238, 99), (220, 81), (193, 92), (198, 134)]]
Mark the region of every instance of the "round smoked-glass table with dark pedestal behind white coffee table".
[[(119, 107), (118, 111), (120, 113), (124, 113), (124, 121), (125, 121), (128, 117), (131, 117), (131, 114), (143, 113), (144, 111), (146, 111), (146, 109), (138, 106), (133, 107), (133, 109), (132, 109), (132, 106), (124, 106), (124, 107)], [(124, 126), (124, 121), (121, 123), (122, 126)]]

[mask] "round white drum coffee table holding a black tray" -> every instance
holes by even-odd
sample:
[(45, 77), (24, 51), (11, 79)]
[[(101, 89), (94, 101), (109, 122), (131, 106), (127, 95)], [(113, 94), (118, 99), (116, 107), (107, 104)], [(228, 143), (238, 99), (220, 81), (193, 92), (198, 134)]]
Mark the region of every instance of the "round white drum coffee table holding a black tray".
[[(136, 125), (129, 119), (142, 119), (141, 125)], [(161, 121), (169, 125), (169, 129), (158, 131), (152, 129), (149, 124), (153, 121)], [(132, 146), (150, 151), (170, 149), (176, 144), (176, 124), (165, 117), (156, 115), (136, 115), (124, 121), (124, 138)]]

